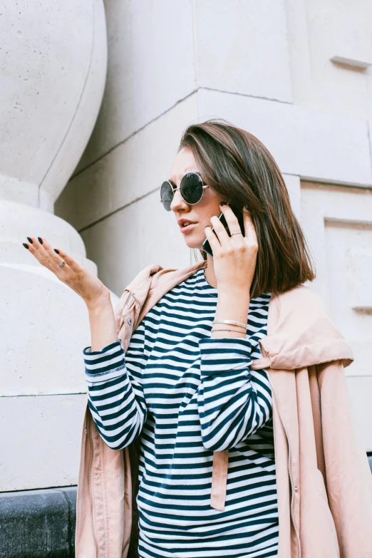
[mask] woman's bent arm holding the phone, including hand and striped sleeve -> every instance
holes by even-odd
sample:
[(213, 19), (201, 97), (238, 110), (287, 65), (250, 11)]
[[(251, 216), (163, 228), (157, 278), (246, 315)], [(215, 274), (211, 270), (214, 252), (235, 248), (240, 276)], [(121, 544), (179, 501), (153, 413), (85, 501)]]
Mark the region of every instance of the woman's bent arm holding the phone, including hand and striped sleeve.
[[(228, 236), (217, 217), (206, 228), (213, 250), (217, 280), (215, 319), (247, 324), (250, 288), (257, 261), (257, 234), (252, 217), (244, 209), (244, 232), (239, 233), (237, 218), (227, 205), (221, 207), (232, 233)], [(217, 235), (217, 236), (216, 236)], [(223, 327), (223, 326), (222, 326)], [(222, 329), (220, 327), (220, 329)], [(227, 450), (254, 434), (272, 417), (272, 395), (264, 373), (252, 376), (251, 343), (246, 331), (212, 331), (200, 341), (201, 384), (198, 410), (202, 440), (209, 450)]]

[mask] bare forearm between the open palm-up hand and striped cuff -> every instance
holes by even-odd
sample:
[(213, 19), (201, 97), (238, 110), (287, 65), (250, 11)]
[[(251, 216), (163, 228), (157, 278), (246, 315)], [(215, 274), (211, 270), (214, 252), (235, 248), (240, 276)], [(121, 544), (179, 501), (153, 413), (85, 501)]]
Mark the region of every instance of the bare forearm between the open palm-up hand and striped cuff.
[(110, 294), (87, 304), (87, 308), (91, 326), (91, 350), (101, 351), (103, 347), (118, 339)]

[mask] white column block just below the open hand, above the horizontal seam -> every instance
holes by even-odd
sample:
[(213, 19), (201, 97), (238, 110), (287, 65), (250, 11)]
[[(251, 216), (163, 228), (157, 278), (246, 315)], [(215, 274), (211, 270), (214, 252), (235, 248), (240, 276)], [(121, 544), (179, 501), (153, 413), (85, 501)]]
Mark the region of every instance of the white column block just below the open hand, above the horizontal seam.
[[(29, 255), (20, 244), (21, 250)], [(17, 281), (14, 266), (0, 268), (1, 290), (12, 300), (11, 305), (4, 306), (0, 319), (6, 324), (0, 343), (1, 395), (85, 391), (82, 351), (91, 343), (86, 304), (40, 264), (23, 268), (19, 264)], [(29, 304), (33, 304), (33, 312), (26, 313)], [(43, 342), (36, 350), (35, 343), (40, 339)]]

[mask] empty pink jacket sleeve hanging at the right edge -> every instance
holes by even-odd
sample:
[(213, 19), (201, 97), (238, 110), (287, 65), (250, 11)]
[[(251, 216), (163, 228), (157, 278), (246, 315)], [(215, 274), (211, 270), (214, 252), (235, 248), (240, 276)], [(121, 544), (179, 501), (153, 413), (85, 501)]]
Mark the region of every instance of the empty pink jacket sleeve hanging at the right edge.
[(341, 556), (370, 556), (372, 475), (354, 424), (342, 361), (316, 365), (325, 483)]

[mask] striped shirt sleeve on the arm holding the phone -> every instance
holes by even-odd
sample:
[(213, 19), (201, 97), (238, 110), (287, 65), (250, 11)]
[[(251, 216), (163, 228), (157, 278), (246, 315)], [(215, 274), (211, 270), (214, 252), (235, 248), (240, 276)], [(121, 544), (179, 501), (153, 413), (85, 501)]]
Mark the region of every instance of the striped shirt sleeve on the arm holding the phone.
[(229, 450), (272, 418), (269, 380), (263, 371), (252, 375), (249, 340), (201, 339), (199, 345), (197, 405), (203, 445)]

